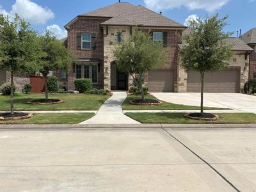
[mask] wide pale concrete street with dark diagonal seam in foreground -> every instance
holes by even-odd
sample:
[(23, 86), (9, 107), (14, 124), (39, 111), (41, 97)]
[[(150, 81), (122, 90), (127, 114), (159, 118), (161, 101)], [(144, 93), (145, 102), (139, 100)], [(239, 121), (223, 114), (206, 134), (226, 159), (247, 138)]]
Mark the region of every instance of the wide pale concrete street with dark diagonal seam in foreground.
[(256, 129), (0, 129), (0, 188), (253, 191), (255, 134)]

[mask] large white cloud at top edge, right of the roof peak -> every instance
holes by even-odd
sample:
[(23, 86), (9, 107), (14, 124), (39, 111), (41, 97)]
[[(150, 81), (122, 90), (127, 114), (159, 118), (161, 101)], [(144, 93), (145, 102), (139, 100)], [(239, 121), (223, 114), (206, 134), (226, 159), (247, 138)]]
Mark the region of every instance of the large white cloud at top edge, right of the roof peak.
[(146, 6), (152, 10), (168, 10), (186, 6), (189, 10), (202, 9), (214, 12), (230, 0), (144, 0)]

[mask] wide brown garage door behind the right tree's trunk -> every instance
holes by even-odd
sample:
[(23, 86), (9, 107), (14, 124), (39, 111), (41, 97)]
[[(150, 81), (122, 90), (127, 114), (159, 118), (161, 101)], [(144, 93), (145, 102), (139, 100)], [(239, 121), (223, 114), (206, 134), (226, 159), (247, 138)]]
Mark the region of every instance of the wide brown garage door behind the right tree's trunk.
[[(207, 72), (204, 79), (205, 93), (237, 93), (240, 90), (239, 70), (223, 70), (220, 72)], [(200, 73), (188, 72), (187, 92), (200, 92)]]

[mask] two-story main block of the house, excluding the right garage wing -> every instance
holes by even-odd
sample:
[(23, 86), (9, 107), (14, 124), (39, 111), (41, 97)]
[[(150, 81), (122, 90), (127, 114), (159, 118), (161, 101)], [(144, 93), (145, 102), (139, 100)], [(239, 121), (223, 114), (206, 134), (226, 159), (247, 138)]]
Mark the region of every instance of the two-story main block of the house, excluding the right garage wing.
[(93, 12), (77, 16), (65, 28), (68, 31), (67, 47), (75, 52), (77, 62), (72, 71), (59, 79), (74, 89), (77, 78), (92, 78), (93, 87), (108, 90), (127, 90), (132, 86), (129, 74), (116, 68), (113, 49), (127, 39), (134, 27), (152, 31), (154, 40), (170, 47), (168, 61), (164, 68), (148, 72), (145, 84), (150, 91), (174, 92), (177, 84), (178, 44), (185, 26), (143, 6), (129, 3), (115, 3)]

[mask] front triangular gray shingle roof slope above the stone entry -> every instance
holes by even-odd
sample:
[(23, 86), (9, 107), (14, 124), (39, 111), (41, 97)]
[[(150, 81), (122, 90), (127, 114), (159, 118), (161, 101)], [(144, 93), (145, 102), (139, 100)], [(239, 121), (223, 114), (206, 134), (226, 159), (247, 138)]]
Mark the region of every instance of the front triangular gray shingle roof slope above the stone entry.
[(156, 26), (156, 27), (180, 27), (186, 28), (182, 24), (175, 22), (163, 15), (160, 15), (144, 6), (136, 6), (122, 15), (106, 20), (102, 25), (127, 25), (127, 26)]

